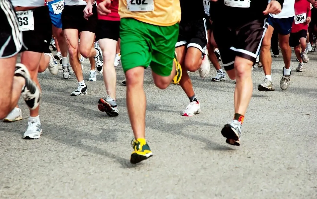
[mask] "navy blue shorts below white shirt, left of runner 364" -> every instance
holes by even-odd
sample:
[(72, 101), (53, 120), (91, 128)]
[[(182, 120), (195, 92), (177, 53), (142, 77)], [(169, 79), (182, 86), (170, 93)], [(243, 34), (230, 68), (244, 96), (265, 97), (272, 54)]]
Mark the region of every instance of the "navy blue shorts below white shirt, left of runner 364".
[(283, 19), (268, 16), (268, 24), (281, 35), (288, 35), (289, 33), (291, 33), (293, 21), (294, 16)]

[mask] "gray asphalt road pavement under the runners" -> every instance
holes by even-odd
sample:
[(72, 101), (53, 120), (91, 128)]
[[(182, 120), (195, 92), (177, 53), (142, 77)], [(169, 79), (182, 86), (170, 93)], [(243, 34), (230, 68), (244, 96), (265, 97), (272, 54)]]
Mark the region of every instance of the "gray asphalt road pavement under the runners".
[[(55, 52), (53, 52), (55, 54)], [(316, 199), (317, 198), (317, 52), (303, 72), (292, 56), (291, 85), (279, 88), (282, 57), (273, 58), (274, 92), (260, 92), (262, 68), (253, 70), (254, 92), (243, 124), (241, 146), (225, 143), (220, 131), (233, 117), (234, 81), (211, 82), (191, 73), (202, 112), (182, 117), (189, 100), (181, 87), (159, 90), (150, 68), (146, 138), (153, 157), (129, 162), (133, 138), (126, 110), (124, 74), (117, 71), (120, 116), (97, 108), (105, 95), (102, 75), (86, 81), (88, 94), (71, 97), (71, 79), (39, 74), (43, 135), (23, 140), (23, 120), (0, 123), (1, 199)], [(84, 76), (89, 75), (84, 62)]]

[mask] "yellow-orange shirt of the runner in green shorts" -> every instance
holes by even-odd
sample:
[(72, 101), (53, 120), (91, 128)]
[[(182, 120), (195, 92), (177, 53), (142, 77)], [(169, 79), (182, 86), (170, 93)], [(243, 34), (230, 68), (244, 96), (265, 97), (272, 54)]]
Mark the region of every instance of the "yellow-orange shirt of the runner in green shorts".
[(136, 0), (119, 0), (120, 18), (134, 18), (141, 22), (158, 26), (172, 26), (180, 22), (181, 10), (179, 0), (146, 0), (146, 2), (154, 1), (154, 10), (146, 12), (128, 10), (127, 1), (135, 3)]

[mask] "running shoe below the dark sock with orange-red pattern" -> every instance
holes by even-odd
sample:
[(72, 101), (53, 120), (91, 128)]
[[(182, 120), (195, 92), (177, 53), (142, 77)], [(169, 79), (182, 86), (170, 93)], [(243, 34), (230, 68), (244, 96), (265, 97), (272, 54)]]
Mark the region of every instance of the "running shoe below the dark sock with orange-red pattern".
[(224, 125), (221, 134), (227, 138), (226, 143), (240, 146), (241, 124), (238, 120), (234, 119), (232, 122)]

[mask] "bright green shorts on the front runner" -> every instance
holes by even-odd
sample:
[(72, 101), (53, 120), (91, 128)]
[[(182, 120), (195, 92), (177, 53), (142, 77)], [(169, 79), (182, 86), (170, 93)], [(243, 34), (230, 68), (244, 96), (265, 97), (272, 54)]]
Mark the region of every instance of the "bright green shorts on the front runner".
[(161, 76), (169, 76), (173, 68), (178, 23), (157, 26), (133, 18), (120, 22), (121, 63), (124, 72), (135, 67), (151, 66)]

